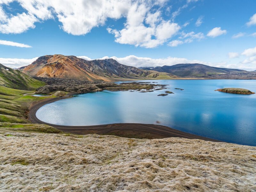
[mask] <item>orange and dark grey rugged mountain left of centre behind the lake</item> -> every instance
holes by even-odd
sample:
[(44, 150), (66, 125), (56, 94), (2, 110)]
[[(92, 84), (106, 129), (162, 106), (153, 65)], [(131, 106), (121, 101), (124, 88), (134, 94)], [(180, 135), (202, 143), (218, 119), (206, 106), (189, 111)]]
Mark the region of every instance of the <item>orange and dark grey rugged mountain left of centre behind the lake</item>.
[(58, 77), (88, 81), (113, 81), (118, 78), (175, 78), (177, 76), (147, 71), (118, 63), (114, 59), (84, 60), (76, 56), (45, 55), (19, 68), (30, 76)]

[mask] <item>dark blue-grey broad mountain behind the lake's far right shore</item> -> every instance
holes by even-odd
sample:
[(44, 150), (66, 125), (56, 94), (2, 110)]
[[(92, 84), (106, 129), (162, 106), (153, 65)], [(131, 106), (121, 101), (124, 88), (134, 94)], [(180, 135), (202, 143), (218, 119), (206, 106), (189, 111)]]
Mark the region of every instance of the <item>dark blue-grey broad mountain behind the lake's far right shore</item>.
[(217, 68), (199, 63), (176, 64), (172, 66), (163, 66), (154, 68), (153, 70), (159, 72), (171, 73), (181, 77), (202, 77), (214, 74), (223, 74), (230, 72), (248, 72), (240, 69)]

